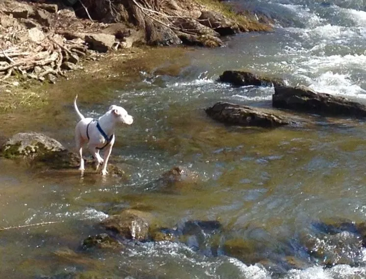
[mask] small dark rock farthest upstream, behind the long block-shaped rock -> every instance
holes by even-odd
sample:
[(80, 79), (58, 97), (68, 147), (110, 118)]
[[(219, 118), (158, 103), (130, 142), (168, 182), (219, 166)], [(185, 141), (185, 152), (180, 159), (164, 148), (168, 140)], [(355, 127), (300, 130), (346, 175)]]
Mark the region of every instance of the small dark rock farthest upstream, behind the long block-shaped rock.
[(284, 86), (281, 78), (261, 76), (248, 71), (226, 70), (219, 76), (218, 81), (230, 83), (233, 86)]

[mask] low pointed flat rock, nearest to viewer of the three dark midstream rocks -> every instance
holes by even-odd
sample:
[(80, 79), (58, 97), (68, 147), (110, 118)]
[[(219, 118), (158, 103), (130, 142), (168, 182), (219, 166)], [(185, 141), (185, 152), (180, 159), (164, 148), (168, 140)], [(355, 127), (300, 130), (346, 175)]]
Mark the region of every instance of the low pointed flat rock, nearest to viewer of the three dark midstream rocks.
[(275, 112), (269, 113), (258, 108), (227, 102), (217, 102), (205, 111), (211, 118), (231, 125), (272, 128), (295, 124), (289, 117), (276, 115)]

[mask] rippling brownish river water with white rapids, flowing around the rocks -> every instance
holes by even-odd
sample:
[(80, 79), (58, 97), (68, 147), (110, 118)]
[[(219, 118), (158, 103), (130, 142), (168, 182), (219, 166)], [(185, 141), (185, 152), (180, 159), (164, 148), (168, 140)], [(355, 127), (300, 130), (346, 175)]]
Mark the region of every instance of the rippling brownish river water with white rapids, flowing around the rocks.
[[(98, 93), (107, 92), (107, 98), (86, 102), (87, 90), (79, 93), (85, 115), (103, 114), (110, 102), (134, 116), (130, 127), (118, 129), (112, 152), (127, 180), (38, 173), (0, 161), (0, 226), (58, 222), (0, 231), (0, 278), (366, 278), (366, 250), (352, 223), (338, 231), (326, 225), (365, 220), (365, 121), (302, 115), (314, 124), (247, 129), (216, 123), (203, 110), (218, 100), (270, 107), (273, 88), (215, 82), (232, 69), (364, 101), (366, 4), (236, 2), (275, 19), (274, 32), (240, 34), (229, 38), (227, 47), (196, 49), (182, 56), (187, 66), (179, 75), (141, 71), (141, 81), (117, 81)], [(21, 125), (6, 116), (3, 127), (10, 134), (37, 123), (38, 131), (72, 148), (74, 93), (68, 90), (67, 100), (34, 112)], [(154, 183), (176, 165), (197, 172), (199, 179), (173, 189)], [(85, 237), (99, 232), (94, 226), (99, 220), (125, 208), (147, 210), (168, 228), (218, 220), (223, 229), (203, 230), (185, 243), (128, 242), (122, 252), (62, 256), (79, 251)], [(241, 252), (225, 248), (233, 239), (245, 243)], [(309, 253), (309, 242), (322, 256)]]

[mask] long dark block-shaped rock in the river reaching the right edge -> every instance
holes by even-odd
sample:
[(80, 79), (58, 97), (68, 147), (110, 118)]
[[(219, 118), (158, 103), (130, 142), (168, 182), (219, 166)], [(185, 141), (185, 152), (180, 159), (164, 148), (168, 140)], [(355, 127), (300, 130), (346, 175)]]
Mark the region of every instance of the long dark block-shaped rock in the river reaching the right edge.
[(306, 86), (276, 86), (272, 95), (275, 108), (321, 115), (366, 116), (366, 106), (347, 98), (317, 93)]

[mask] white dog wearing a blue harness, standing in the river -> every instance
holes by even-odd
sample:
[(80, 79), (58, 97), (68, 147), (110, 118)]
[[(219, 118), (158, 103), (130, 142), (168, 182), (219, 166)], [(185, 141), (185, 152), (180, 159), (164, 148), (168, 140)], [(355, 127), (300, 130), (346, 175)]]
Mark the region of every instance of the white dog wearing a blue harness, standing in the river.
[[(110, 153), (112, 151), (112, 146), (114, 144), (114, 129), (118, 122), (122, 122), (131, 125), (133, 122), (132, 116), (130, 116), (127, 111), (119, 106), (111, 105), (108, 111), (98, 119), (85, 118), (76, 104), (78, 95), (76, 95), (74, 100), (75, 111), (80, 117), (80, 121), (75, 127), (75, 141), (76, 147), (80, 155), (80, 167), (81, 172), (84, 171), (84, 159), (82, 158), (82, 146), (84, 143), (88, 142), (88, 147), (97, 160), (97, 170), (101, 163), (102, 174), (106, 175), (107, 163)], [(99, 155), (99, 150), (105, 149), (104, 159)]]

